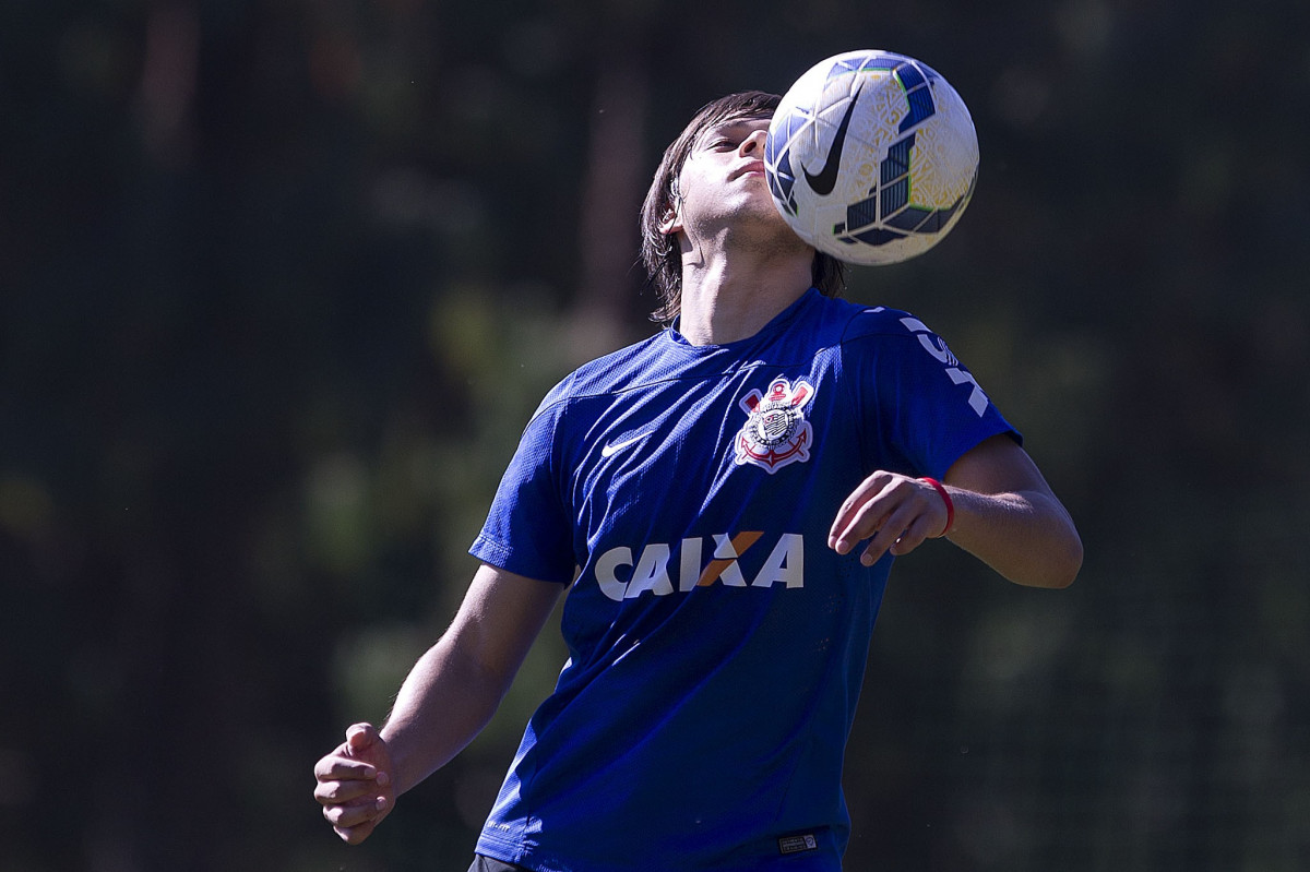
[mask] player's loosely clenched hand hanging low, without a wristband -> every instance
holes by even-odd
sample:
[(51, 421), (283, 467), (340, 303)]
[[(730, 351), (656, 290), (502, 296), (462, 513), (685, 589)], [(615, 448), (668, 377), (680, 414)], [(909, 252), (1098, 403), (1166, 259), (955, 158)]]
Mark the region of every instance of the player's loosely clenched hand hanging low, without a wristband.
[(386, 742), (372, 724), (354, 724), (346, 741), (314, 765), (314, 799), (342, 839), (359, 845), (396, 805)]

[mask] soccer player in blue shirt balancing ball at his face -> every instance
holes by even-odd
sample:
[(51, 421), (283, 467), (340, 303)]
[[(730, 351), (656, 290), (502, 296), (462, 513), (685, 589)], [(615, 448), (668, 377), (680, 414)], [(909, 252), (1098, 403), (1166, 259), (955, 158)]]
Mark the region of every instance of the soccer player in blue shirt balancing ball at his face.
[(451, 627), (314, 795), (358, 843), (487, 723), (557, 598), (569, 660), (473, 869), (841, 868), (842, 755), (895, 556), (948, 537), (1006, 579), (1082, 545), (1018, 433), (924, 323), (836, 299), (765, 183), (778, 98), (734, 94), (642, 209), (652, 338), (542, 401)]

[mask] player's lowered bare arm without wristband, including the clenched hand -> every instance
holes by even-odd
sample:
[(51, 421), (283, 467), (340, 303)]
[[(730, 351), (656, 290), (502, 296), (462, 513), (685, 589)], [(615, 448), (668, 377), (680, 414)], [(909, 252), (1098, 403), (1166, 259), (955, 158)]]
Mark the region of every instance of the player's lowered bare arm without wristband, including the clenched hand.
[(495, 714), (563, 585), (483, 564), (451, 627), (419, 657), (381, 731), (355, 724), (314, 766), (337, 834), (363, 842), (396, 796), (451, 761)]

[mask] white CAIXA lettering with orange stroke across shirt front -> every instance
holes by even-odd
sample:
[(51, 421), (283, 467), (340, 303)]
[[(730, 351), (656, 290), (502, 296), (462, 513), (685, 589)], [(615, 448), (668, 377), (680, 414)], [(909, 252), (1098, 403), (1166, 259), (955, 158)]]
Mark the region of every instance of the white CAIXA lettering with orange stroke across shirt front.
[[(663, 542), (646, 545), (641, 554), (634, 554), (626, 545), (618, 546), (596, 558), (596, 581), (601, 592), (616, 602), (634, 600), (643, 593), (656, 597), (675, 590), (688, 593), (711, 584), (730, 588), (770, 588), (776, 584), (803, 588), (804, 537), (799, 533), (783, 533), (776, 542), (765, 539), (761, 545), (764, 538), (764, 533), (758, 530), (686, 538), (677, 545), (676, 560), (673, 546)], [(765, 551), (770, 545), (770, 550)], [(705, 559), (706, 551), (709, 560)]]

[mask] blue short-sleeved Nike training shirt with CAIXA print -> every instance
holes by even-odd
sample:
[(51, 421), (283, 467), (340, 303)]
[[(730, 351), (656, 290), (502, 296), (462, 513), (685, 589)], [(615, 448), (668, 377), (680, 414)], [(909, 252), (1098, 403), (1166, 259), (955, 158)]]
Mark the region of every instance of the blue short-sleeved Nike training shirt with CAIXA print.
[(676, 329), (566, 377), (477, 558), (571, 584), (569, 661), (477, 850), (540, 872), (841, 868), (842, 755), (892, 558), (828, 529), (875, 470), (941, 478), (1005, 422), (904, 312), (811, 288), (764, 330)]

